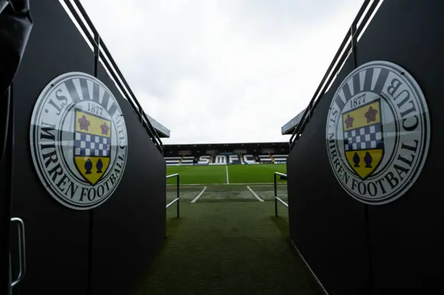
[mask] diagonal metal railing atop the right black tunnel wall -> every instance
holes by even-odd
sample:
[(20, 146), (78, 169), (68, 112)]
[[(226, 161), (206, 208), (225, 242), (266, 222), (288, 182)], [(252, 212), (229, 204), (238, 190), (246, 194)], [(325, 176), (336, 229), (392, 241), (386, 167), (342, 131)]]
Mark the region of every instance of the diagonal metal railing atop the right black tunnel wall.
[(316, 89), (313, 98), (311, 98), (308, 107), (305, 109), (304, 114), (302, 115), (302, 118), (300, 118), (300, 121), (298, 125), (296, 125), (293, 134), (291, 134), (290, 150), (300, 138), (300, 135), (309, 122), (314, 109), (316, 109), (316, 106), (318, 105), (318, 102), (321, 100), (325, 92), (327, 92), (327, 89), (332, 84), (334, 78), (336, 78), (336, 75), (339, 73), (346, 58), (350, 54), (353, 56), (356, 67), (355, 46), (357, 44), (357, 39), (362, 33), (364, 33), (366, 26), (368, 26), (370, 17), (373, 15), (379, 2), (381, 1), (382, 0), (365, 0), (362, 4), (357, 16), (355, 17), (355, 20), (352, 22), (352, 26), (350, 26), (350, 30), (348, 30), (347, 34), (345, 35), (341, 46), (339, 46), (336, 55), (333, 57), (332, 63), (328, 67), (327, 72)]

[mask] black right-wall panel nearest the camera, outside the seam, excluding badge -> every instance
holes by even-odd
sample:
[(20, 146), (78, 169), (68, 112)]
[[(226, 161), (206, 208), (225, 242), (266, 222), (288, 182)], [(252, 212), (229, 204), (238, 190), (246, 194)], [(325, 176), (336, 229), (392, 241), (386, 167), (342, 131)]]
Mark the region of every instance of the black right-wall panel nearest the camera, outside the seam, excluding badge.
[(443, 1), (384, 1), (357, 48), (357, 61), (388, 60), (409, 71), (429, 106), (429, 156), (416, 184), (400, 199), (370, 206), (377, 294), (434, 293), (444, 277)]

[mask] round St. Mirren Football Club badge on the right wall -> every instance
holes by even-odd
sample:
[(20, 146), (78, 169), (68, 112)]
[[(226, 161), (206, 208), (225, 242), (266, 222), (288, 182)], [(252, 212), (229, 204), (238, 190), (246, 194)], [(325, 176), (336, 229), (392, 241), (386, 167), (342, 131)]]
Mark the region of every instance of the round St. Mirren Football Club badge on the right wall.
[(342, 188), (359, 202), (386, 204), (409, 190), (427, 159), (427, 102), (405, 69), (368, 62), (334, 94), (325, 135)]

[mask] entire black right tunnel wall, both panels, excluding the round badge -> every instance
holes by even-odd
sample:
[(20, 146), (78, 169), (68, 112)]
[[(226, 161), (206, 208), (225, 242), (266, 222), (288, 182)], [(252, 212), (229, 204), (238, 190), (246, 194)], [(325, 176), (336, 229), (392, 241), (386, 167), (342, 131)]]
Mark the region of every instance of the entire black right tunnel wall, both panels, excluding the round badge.
[[(344, 239), (342, 235), (356, 224), (364, 225), (365, 214), (359, 207), (364, 205), (353, 208), (341, 202), (348, 197), (359, 204), (336, 184), (323, 150), (325, 145), (320, 144), (321, 137), (325, 136), (331, 93), (321, 100), (289, 155), (291, 238), (331, 294), (365, 294), (350, 292), (349, 288), (359, 287), (359, 282), (367, 278), (370, 278), (367, 287), (372, 294), (405, 293), (407, 290), (432, 293), (441, 287), (439, 284), (444, 276), (441, 208), (444, 201), (439, 197), (439, 171), (444, 168), (441, 152), (444, 118), (439, 111), (444, 107), (441, 91), (444, 42), (438, 36), (442, 35), (443, 12), (442, 1), (384, 1), (357, 44), (357, 66), (386, 60), (399, 64), (413, 75), (425, 94), (432, 125), (428, 159), (416, 184), (395, 202), (367, 206), (368, 242), (365, 235), (359, 238), (359, 231), (358, 238)], [(336, 91), (352, 69), (351, 64), (345, 66), (330, 91)], [(323, 186), (308, 184), (310, 178), (315, 179), (311, 180), (313, 183), (321, 177)], [(328, 211), (348, 220), (348, 224), (336, 223), (334, 229), (334, 218), (319, 222), (329, 217)], [(357, 229), (365, 233), (364, 226), (357, 226)], [(334, 238), (343, 241), (345, 251), (335, 246), (339, 242), (332, 242)], [(350, 274), (352, 260), (358, 265), (368, 260), (370, 276), (364, 267), (353, 267), (355, 274)]]

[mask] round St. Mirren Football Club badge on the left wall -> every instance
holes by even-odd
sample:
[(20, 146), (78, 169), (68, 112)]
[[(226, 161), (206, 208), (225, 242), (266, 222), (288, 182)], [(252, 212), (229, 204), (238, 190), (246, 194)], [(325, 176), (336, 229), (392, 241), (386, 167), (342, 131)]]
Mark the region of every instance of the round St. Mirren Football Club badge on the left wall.
[(119, 186), (128, 150), (125, 120), (110, 89), (92, 75), (65, 73), (46, 85), (30, 139), (37, 175), (61, 204), (91, 209)]

